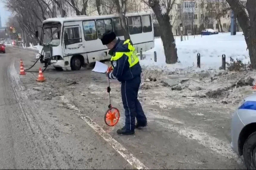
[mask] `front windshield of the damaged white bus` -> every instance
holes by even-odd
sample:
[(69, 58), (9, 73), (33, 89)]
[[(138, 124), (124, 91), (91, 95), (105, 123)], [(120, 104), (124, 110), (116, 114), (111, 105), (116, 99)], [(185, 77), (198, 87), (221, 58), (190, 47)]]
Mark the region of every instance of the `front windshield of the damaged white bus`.
[(47, 24), (42, 30), (42, 44), (49, 44), (52, 46), (59, 46), (60, 44), (61, 24)]

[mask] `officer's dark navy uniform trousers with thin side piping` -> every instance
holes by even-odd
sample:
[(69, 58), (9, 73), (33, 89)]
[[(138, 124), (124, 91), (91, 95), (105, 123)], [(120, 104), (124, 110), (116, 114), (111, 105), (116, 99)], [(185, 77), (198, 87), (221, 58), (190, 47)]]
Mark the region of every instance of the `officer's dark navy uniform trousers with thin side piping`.
[(130, 131), (135, 129), (135, 117), (137, 122), (145, 123), (147, 121), (138, 100), (140, 81), (140, 76), (137, 76), (131, 80), (121, 82), (121, 95), (125, 109), (125, 129)]

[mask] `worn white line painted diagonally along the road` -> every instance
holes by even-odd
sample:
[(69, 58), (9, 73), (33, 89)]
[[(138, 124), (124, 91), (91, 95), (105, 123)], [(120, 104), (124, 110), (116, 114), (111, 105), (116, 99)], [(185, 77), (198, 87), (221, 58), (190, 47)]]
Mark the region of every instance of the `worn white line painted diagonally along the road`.
[(61, 100), (68, 105), (69, 108), (75, 110), (75, 114), (78, 115), (81, 119), (83, 119), (97, 134), (99, 134), (106, 142), (111, 145), (114, 150), (116, 150), (129, 164), (133, 166), (135, 169), (148, 169), (139, 159), (135, 158), (123, 145), (117, 142), (114, 138), (112, 138), (105, 130), (102, 129), (97, 123), (95, 123), (91, 118), (86, 115), (80, 114), (80, 110), (71, 102), (65, 98), (65, 96), (60, 96)]

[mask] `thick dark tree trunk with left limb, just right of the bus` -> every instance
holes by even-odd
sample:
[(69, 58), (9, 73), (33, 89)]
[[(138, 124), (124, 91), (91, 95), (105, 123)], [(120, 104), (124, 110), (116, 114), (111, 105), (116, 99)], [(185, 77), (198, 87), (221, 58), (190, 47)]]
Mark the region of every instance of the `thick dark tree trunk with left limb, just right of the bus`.
[(148, 0), (150, 7), (153, 9), (160, 28), (160, 36), (163, 41), (163, 49), (165, 51), (165, 62), (174, 64), (178, 60), (177, 48), (173, 37), (172, 26), (168, 13), (162, 14), (159, 1)]

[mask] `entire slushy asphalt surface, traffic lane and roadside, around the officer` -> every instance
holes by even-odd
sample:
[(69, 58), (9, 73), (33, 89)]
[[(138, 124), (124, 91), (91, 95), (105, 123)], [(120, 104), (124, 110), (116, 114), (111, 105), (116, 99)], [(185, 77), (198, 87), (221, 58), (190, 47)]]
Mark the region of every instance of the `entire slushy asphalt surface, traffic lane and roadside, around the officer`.
[(0, 169), (244, 168), (229, 146), (230, 119), (217, 107), (169, 109), (160, 106), (170, 99), (158, 100), (168, 89), (143, 91), (148, 127), (118, 136), (124, 120), (119, 83), (111, 85), (121, 120), (109, 128), (102, 121), (104, 75), (49, 68), (46, 82), (36, 83), (37, 73), (19, 75), (20, 58), (28, 68), (35, 53), (7, 47), (0, 54)]

